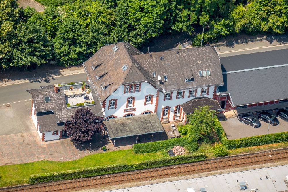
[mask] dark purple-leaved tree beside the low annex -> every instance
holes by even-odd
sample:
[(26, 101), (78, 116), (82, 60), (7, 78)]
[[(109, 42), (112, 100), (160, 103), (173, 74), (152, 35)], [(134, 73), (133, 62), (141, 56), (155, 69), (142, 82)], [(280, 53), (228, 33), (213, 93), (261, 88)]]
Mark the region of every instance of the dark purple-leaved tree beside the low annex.
[(90, 108), (79, 108), (71, 116), (71, 124), (67, 124), (64, 130), (75, 144), (91, 140), (95, 133), (99, 133), (105, 127), (101, 118), (94, 115)]

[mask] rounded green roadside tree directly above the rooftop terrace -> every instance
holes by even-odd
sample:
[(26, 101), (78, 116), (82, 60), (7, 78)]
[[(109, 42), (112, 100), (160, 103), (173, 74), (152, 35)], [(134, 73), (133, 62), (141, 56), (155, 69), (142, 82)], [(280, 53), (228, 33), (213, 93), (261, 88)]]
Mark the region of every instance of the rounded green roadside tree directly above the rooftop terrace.
[(79, 19), (67, 16), (53, 39), (56, 59), (61, 65), (78, 65), (87, 59), (87, 30)]

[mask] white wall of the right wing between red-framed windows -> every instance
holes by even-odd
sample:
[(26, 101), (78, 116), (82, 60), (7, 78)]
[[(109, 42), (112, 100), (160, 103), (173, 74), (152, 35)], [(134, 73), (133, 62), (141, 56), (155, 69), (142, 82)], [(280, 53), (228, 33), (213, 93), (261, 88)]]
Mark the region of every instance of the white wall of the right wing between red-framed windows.
[[(209, 87), (208, 95), (202, 95), (202, 96), (205, 96), (205, 97), (208, 97), (208, 98), (212, 98), (213, 97), (213, 91), (214, 91), (214, 87)], [(185, 90), (184, 98), (183, 99), (182, 98), (176, 99), (177, 91), (174, 91), (172, 93), (172, 100), (168, 99), (168, 100), (164, 101), (165, 95), (162, 92), (160, 92), (159, 93), (159, 100), (158, 100), (158, 107), (157, 107), (157, 116), (158, 116), (158, 118), (161, 119), (162, 108), (168, 106), (168, 107), (170, 107), (170, 114), (168, 114), (169, 115), (169, 121), (173, 121), (175, 106), (181, 105), (181, 104), (183, 104), (183, 103), (185, 103), (187, 101), (190, 101), (193, 98), (201, 97), (200, 96), (201, 88), (197, 89), (196, 97), (188, 97), (188, 94), (189, 94), (189, 90)]]

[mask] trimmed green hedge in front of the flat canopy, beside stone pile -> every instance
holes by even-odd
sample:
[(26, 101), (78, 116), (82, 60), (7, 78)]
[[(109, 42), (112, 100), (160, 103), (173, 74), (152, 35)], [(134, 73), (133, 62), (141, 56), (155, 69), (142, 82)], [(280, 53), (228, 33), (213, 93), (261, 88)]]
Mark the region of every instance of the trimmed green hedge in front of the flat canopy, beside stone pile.
[(158, 151), (162, 150), (170, 150), (174, 146), (180, 145), (187, 150), (189, 150), (190, 153), (195, 152), (199, 145), (196, 142), (191, 142), (188, 137), (183, 138), (173, 138), (173, 139), (167, 139), (163, 141), (155, 141), (155, 142), (149, 142), (149, 143), (137, 143), (133, 146), (133, 152), (134, 153), (156, 153)]

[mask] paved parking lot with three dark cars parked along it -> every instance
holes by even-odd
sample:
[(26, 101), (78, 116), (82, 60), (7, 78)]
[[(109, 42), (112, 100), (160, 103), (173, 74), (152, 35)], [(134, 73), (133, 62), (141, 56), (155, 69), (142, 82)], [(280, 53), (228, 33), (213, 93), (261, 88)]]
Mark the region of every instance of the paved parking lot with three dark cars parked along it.
[[(259, 113), (253, 116), (258, 119), (258, 115)], [(274, 116), (276, 116), (276, 114), (274, 114)], [(226, 132), (228, 139), (239, 139), (239, 138), (244, 138), (244, 137), (267, 134), (268, 123), (264, 121), (260, 121), (261, 126), (258, 128), (253, 128), (251, 125), (241, 123), (239, 121), (239, 118), (241, 118), (241, 116), (230, 118), (226, 121), (221, 121), (221, 125), (223, 126), (223, 129)], [(282, 119), (279, 119), (279, 122), (280, 123), (276, 126), (270, 125), (269, 133), (280, 133), (280, 132), (288, 131), (288, 122)]]

